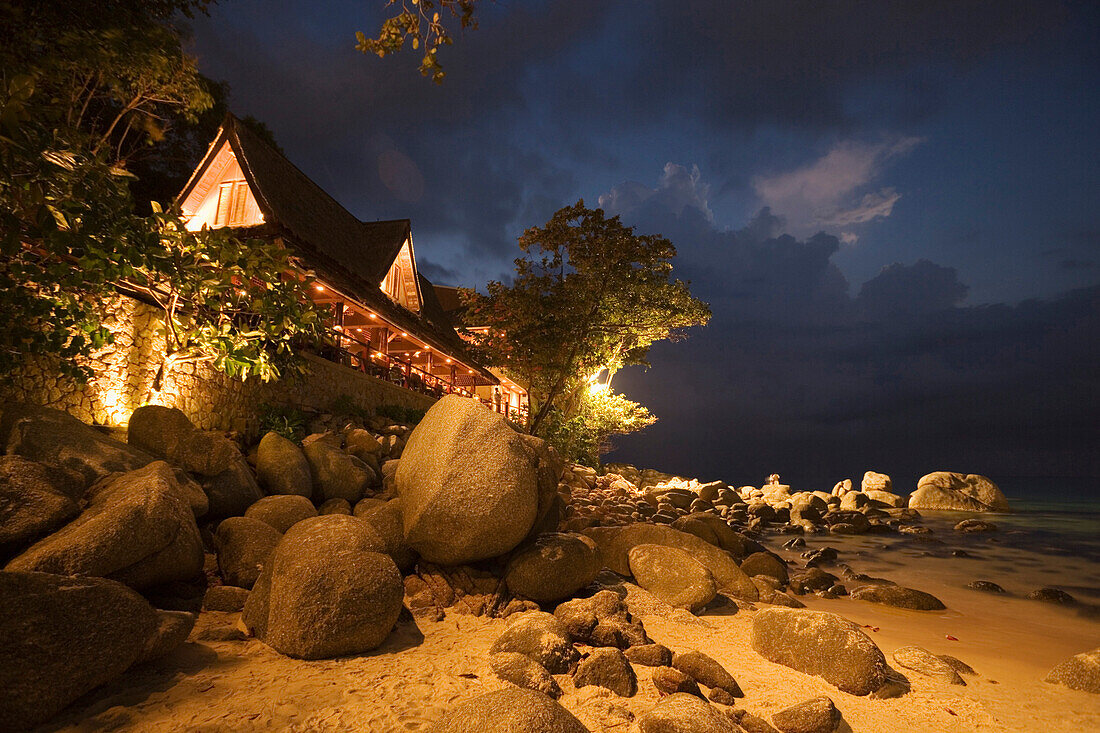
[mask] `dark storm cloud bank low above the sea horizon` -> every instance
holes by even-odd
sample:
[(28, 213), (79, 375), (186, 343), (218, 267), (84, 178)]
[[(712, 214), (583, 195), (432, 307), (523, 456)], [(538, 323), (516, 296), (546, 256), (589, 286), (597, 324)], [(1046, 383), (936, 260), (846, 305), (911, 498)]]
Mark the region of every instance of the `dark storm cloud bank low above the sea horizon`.
[(660, 419), (620, 439), (613, 459), (661, 455), (667, 470), (747, 483), (779, 471), (825, 489), (868, 469), (902, 486), (941, 469), (1100, 470), (1100, 287), (963, 307), (955, 270), (919, 261), (853, 297), (832, 262), (836, 239), (777, 236), (768, 211), (738, 231), (657, 197), (622, 214), (670, 236), (678, 274), (715, 315), (654, 348), (645, 374), (617, 378)]

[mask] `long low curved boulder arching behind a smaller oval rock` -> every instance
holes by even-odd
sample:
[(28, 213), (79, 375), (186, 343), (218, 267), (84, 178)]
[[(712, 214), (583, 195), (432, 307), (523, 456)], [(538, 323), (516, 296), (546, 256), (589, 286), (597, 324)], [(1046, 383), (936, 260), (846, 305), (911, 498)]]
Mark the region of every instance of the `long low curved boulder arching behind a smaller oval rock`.
[(630, 549), (637, 545), (664, 545), (684, 550), (714, 576), (718, 592), (756, 601), (760, 592), (729, 553), (711, 543), (660, 524), (630, 524), (624, 527), (592, 527), (584, 534), (596, 540), (604, 567), (620, 576), (630, 572)]

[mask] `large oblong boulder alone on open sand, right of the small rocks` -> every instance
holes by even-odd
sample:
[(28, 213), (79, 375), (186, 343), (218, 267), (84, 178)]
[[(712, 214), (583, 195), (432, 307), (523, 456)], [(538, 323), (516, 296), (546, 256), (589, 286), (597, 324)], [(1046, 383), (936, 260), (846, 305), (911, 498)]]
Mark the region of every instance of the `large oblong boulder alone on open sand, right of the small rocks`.
[(833, 613), (765, 609), (752, 619), (752, 648), (763, 658), (816, 675), (849, 694), (886, 682), (886, 657), (859, 626)]

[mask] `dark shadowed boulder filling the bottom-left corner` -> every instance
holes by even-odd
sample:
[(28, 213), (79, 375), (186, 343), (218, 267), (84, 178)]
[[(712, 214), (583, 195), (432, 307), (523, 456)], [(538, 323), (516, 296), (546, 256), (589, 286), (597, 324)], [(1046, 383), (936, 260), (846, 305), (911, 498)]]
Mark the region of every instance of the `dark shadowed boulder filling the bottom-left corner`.
[(0, 572), (0, 729), (30, 730), (139, 660), (157, 613), (102, 578)]

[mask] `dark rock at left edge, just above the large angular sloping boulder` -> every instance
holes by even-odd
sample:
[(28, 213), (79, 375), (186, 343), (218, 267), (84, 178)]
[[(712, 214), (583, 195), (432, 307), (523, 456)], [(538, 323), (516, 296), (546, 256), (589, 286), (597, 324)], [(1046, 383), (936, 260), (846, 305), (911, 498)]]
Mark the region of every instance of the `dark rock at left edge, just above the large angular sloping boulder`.
[(64, 471), (20, 456), (0, 457), (0, 559), (80, 513), (74, 499), (82, 493), (82, 486), (73, 483)]

